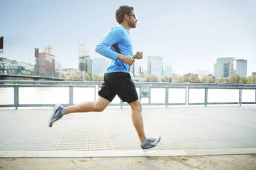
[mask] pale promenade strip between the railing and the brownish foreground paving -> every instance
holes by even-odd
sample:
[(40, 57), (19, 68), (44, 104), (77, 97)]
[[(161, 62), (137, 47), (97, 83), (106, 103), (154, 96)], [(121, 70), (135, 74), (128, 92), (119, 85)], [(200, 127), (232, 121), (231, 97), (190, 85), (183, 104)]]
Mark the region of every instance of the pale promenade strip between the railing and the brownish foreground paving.
[[(147, 136), (162, 136), (155, 150), (256, 148), (255, 107), (143, 108)], [(50, 109), (0, 110), (0, 154), (140, 151), (130, 108), (67, 114), (47, 127)], [(233, 133), (235, 132), (235, 133)], [(117, 152), (116, 152), (117, 151)], [(68, 154), (70, 153), (70, 154)], [(40, 155), (40, 154), (39, 154)], [(84, 155), (84, 154), (82, 154)], [(122, 155), (122, 154), (121, 154)], [(63, 154), (62, 154), (63, 156)]]

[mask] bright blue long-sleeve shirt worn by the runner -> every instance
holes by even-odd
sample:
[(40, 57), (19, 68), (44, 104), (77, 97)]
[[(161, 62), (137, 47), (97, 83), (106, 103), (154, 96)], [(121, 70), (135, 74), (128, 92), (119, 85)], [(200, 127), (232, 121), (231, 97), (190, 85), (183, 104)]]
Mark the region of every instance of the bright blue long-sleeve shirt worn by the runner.
[(112, 28), (109, 34), (96, 46), (95, 51), (112, 60), (105, 73), (129, 73), (130, 66), (122, 62), (122, 60), (116, 59), (119, 56), (119, 53), (117, 53), (113, 47), (116, 43), (122, 55), (134, 56), (129, 31), (122, 25)]

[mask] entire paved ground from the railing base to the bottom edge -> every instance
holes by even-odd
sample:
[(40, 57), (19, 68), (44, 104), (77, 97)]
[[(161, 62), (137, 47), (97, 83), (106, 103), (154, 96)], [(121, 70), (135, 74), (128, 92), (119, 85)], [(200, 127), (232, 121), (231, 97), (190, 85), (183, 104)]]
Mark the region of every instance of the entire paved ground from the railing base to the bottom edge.
[(256, 169), (256, 106), (143, 108), (143, 152), (130, 108), (68, 114), (0, 109), (0, 169)]

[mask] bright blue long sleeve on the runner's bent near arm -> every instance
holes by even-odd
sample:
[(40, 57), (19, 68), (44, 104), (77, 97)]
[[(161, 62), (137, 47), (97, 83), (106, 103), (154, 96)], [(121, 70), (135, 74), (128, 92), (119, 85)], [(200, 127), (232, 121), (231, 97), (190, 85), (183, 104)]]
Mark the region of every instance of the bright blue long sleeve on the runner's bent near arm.
[(100, 44), (96, 46), (95, 51), (107, 58), (110, 58), (111, 60), (116, 60), (116, 58), (118, 58), (119, 56), (119, 53), (117, 53), (116, 51), (112, 51), (111, 49), (109, 49), (109, 47), (120, 42), (122, 34), (122, 29), (118, 29), (118, 27), (111, 29), (109, 34), (107, 34), (107, 36), (103, 38)]

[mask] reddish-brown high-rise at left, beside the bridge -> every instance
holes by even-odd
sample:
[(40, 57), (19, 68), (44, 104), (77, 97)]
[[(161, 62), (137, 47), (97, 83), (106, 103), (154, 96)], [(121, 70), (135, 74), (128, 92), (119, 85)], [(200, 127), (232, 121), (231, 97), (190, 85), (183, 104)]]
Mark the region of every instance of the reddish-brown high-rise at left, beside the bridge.
[(36, 73), (47, 76), (55, 75), (55, 56), (52, 54), (52, 47), (45, 47), (43, 53), (39, 53), (39, 49), (35, 49), (35, 58), (34, 70)]

